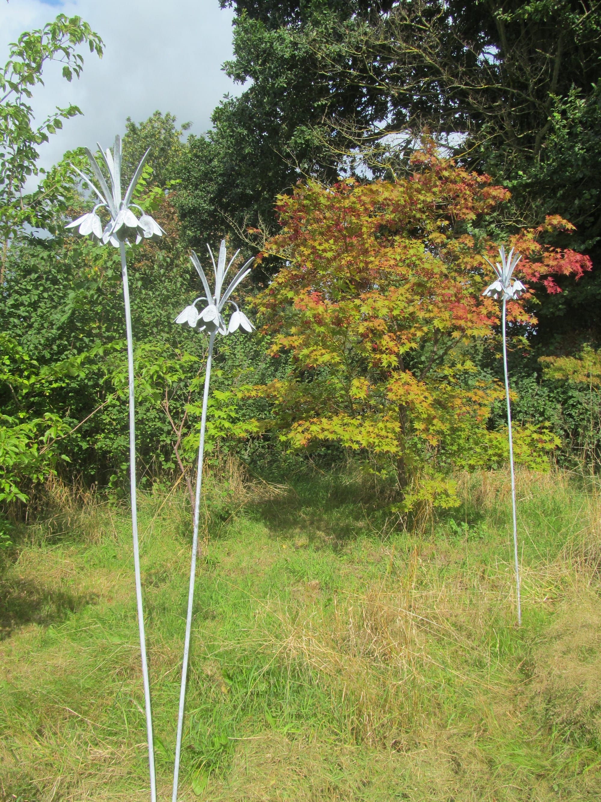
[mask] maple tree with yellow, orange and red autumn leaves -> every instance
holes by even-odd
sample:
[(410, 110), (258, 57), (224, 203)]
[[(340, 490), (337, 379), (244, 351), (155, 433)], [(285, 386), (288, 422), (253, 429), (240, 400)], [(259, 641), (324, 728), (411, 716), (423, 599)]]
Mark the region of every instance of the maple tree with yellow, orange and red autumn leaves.
[[(263, 256), (284, 266), (256, 299), (271, 354), (291, 356), (285, 379), (256, 388), (293, 447), (319, 441), (369, 456), (394, 472), (405, 496), (452, 503), (450, 469), (504, 460), (502, 433), (487, 421), (500, 386), (474, 363), (474, 343), (494, 338), (499, 304), (482, 297), (497, 243), (482, 219), (509, 193), (426, 148), (395, 183), (342, 180), (299, 185), (280, 196), (282, 229)], [(548, 218), (510, 242), (530, 287), (559, 290), (559, 273), (590, 269), (587, 257), (547, 248)], [(534, 322), (529, 294), (508, 305)], [(539, 460), (545, 431), (518, 427), (518, 457)]]

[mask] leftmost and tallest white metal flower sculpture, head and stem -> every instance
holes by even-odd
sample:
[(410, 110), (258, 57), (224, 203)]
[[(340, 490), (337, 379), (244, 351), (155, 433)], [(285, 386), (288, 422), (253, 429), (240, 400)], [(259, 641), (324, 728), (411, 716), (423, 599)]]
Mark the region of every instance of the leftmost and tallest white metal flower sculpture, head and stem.
[[(75, 168), (76, 172), (83, 178), (83, 180), (91, 186), (92, 190), (99, 197), (100, 202), (95, 205), (94, 209), (74, 220), (67, 225), (67, 229), (78, 229), (79, 234), (83, 237), (91, 237), (93, 241), (98, 244), (106, 245), (108, 242), (119, 248), (121, 252), (121, 273), (123, 275), (123, 300), (125, 302), (125, 327), (127, 331), (127, 373), (129, 377), (129, 451), (130, 451), (130, 487), (131, 487), (131, 529), (134, 541), (134, 571), (135, 571), (135, 597), (138, 606), (138, 628), (139, 628), (139, 642), (140, 651), (142, 653), (142, 674), (144, 683), (144, 703), (146, 707), (146, 731), (148, 739), (148, 763), (150, 767), (150, 783), (151, 783), (151, 802), (156, 800), (156, 781), (155, 781), (155, 752), (152, 739), (152, 718), (151, 718), (151, 699), (150, 699), (150, 683), (148, 681), (148, 665), (146, 656), (146, 638), (144, 634), (144, 617), (142, 609), (142, 581), (140, 579), (139, 569), (139, 548), (138, 548), (138, 515), (135, 497), (135, 408), (134, 408), (134, 350), (133, 341), (131, 337), (131, 311), (129, 302), (129, 285), (127, 282), (127, 262), (125, 258), (125, 245), (129, 238), (135, 237), (136, 242), (142, 240), (157, 241), (163, 235), (163, 229), (160, 225), (144, 213), (143, 209), (131, 202), (131, 198), (135, 192), (135, 187), (138, 184), (139, 177), (142, 175), (142, 170), (150, 149), (143, 155), (138, 168), (136, 169), (133, 178), (127, 188), (125, 195), (121, 192), (121, 161), (122, 161), (122, 145), (119, 136), (115, 136), (115, 147), (111, 153), (107, 148), (103, 152), (99, 146), (99, 151), (102, 155), (104, 167), (107, 169), (111, 188), (100, 169), (98, 162), (92, 155), (91, 151), (86, 148), (87, 158), (90, 160), (92, 172), (98, 181), (99, 188), (91, 182), (91, 180), (83, 175), (83, 172)], [(103, 223), (100, 220), (97, 212), (99, 209), (106, 209), (111, 219), (103, 228)], [(131, 209), (139, 209), (142, 212), (141, 217), (135, 217)]]

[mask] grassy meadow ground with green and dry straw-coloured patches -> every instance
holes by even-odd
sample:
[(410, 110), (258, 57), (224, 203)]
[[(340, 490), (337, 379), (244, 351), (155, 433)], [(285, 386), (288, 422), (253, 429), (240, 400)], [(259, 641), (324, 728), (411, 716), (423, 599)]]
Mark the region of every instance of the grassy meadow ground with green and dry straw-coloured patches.
[[(229, 476), (205, 516), (182, 800), (593, 800), (601, 794), (601, 506), (462, 476), (421, 533), (353, 476)], [(61, 496), (60, 488), (55, 495)], [(0, 799), (147, 800), (127, 508), (67, 492), (0, 569)], [(171, 799), (191, 526), (140, 500), (159, 799)]]

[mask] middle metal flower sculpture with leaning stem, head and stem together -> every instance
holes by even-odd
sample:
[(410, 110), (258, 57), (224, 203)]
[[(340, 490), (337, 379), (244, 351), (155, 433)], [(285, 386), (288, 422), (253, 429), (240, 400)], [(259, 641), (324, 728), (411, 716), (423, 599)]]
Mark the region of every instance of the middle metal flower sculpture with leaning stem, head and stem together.
[[(208, 247), (208, 245), (207, 245)], [(196, 267), (196, 272), (200, 276), (200, 281), (203, 284), (204, 295), (196, 298), (190, 306), (186, 306), (183, 312), (175, 318), (175, 323), (188, 323), (196, 331), (206, 331), (209, 335), (208, 340), (208, 356), (207, 356), (207, 372), (204, 377), (204, 395), (203, 395), (203, 411), (200, 418), (200, 444), (198, 448), (198, 468), (196, 472), (196, 498), (194, 504), (194, 532), (192, 535), (192, 565), (190, 566), (190, 587), (188, 589), (188, 614), (186, 616), (186, 635), (184, 639), (184, 660), (182, 663), (182, 684), (179, 690), (179, 715), (177, 719), (177, 739), (175, 742), (175, 769), (173, 772), (173, 796), (172, 802), (177, 802), (177, 784), (179, 780), (179, 757), (181, 754), (182, 746), (182, 728), (184, 726), (184, 702), (186, 695), (186, 677), (188, 675), (188, 654), (190, 651), (190, 632), (192, 630), (192, 602), (194, 601), (194, 581), (196, 578), (196, 552), (198, 549), (198, 519), (200, 508), (200, 487), (203, 480), (203, 456), (204, 456), (204, 427), (207, 422), (207, 404), (208, 404), (208, 386), (211, 381), (211, 364), (213, 358), (213, 345), (215, 343), (216, 334), (222, 337), (232, 334), (238, 328), (244, 331), (251, 332), (254, 329), (252, 323), (248, 320), (246, 315), (238, 309), (238, 306), (233, 301), (229, 300), (230, 295), (236, 290), (236, 287), (248, 276), (250, 273), (250, 265), (254, 261), (254, 257), (249, 259), (242, 268), (236, 273), (228, 289), (222, 294), (221, 290), (224, 286), (225, 277), (228, 275), (228, 270), (232, 267), (233, 261), (240, 251), (234, 253), (232, 259), (229, 261), (228, 267), (225, 267), (225, 240), (221, 241), (219, 249), (219, 258), (217, 264), (211, 249), (208, 247), (208, 253), (211, 256), (213, 263), (213, 271), (215, 273), (215, 292), (211, 292), (208, 285), (207, 277), (204, 275), (204, 270), (200, 265), (200, 259), (196, 253), (192, 252), (192, 264)], [(199, 301), (206, 301), (207, 306), (204, 309), (198, 310), (196, 304)], [(229, 318), (228, 325), (226, 326), (224, 320), (224, 308), (226, 304), (232, 305), (235, 308), (231, 317)]]

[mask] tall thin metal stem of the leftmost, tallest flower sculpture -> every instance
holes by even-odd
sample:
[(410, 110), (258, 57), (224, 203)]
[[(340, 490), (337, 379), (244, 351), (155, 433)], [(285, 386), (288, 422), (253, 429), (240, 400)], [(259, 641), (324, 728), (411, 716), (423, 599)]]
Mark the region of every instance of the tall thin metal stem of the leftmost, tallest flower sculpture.
[(125, 243), (119, 245), (121, 253), (121, 274), (123, 276), (123, 301), (125, 302), (125, 328), (127, 330), (127, 376), (129, 378), (129, 476), (131, 489), (131, 533), (134, 541), (135, 599), (138, 605), (139, 646), (142, 654), (142, 675), (144, 681), (144, 707), (146, 708), (146, 733), (148, 739), (148, 764), (150, 768), (151, 802), (156, 802), (155, 747), (152, 740), (152, 716), (150, 703), (150, 683), (146, 658), (146, 636), (144, 634), (144, 614), (142, 608), (142, 580), (139, 573), (138, 548), (138, 505), (135, 497), (135, 399), (134, 399), (134, 346), (131, 336), (131, 311), (129, 306), (129, 284), (127, 282), (127, 261)]

